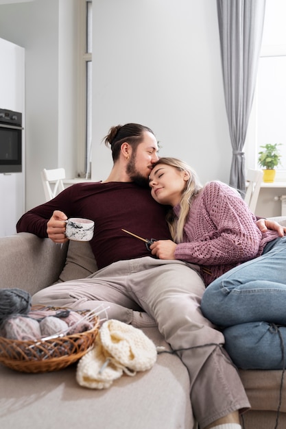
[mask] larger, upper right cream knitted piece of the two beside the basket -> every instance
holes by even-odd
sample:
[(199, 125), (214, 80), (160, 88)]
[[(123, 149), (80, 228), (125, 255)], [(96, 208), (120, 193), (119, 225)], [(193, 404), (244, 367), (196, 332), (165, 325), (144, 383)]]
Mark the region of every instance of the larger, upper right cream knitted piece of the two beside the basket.
[(111, 319), (99, 330), (103, 347), (119, 365), (132, 371), (152, 368), (157, 358), (156, 346), (143, 331), (121, 321)]

